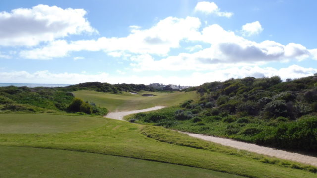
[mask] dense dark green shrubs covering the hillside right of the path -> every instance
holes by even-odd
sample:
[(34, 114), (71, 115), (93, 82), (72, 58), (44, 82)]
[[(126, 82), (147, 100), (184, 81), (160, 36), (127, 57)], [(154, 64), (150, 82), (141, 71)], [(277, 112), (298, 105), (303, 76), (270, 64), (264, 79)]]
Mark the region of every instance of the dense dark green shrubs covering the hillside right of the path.
[(274, 146), (317, 150), (317, 79), (230, 79), (187, 89), (200, 100), (131, 116), (131, 122)]

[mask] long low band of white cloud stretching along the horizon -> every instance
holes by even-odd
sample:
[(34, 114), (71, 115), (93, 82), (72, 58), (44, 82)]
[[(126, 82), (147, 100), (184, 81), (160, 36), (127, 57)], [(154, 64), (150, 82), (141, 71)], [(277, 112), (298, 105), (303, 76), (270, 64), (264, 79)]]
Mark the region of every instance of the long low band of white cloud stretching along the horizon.
[[(122, 71), (117, 71), (118, 73)], [(160, 76), (160, 75), (124, 75), (116, 76), (107, 73), (99, 73), (95, 75), (88, 75), (86, 72), (78, 73), (51, 73), (49, 71), (38, 71), (29, 73), (25, 71), (17, 72), (0, 72), (0, 82), (3, 83), (47, 83), (50, 81), (55, 84), (77, 84), (82, 82), (108, 82), (111, 84), (117, 83), (134, 83), (134, 84), (150, 84), (150, 83), (164, 83), (164, 84), (181, 84), (181, 85), (201, 85), (205, 82), (224, 81), (230, 78), (244, 78), (244, 77), (272, 77), (280, 76), (282, 80), (287, 78), (300, 78), (312, 76), (317, 72), (316, 68), (304, 68), (298, 65), (291, 65), (279, 70), (267, 67), (230, 67), (226, 69), (217, 69), (212, 72), (194, 72), (186, 77), (182, 76)]]

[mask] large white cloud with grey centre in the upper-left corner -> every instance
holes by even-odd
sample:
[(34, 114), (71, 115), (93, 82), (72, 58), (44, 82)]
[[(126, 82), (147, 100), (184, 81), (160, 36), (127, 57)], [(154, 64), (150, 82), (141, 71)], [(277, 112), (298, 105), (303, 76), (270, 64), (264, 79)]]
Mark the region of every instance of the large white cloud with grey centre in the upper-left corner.
[(0, 12), (0, 45), (34, 46), (40, 42), (83, 32), (97, 32), (84, 9), (37, 5)]

